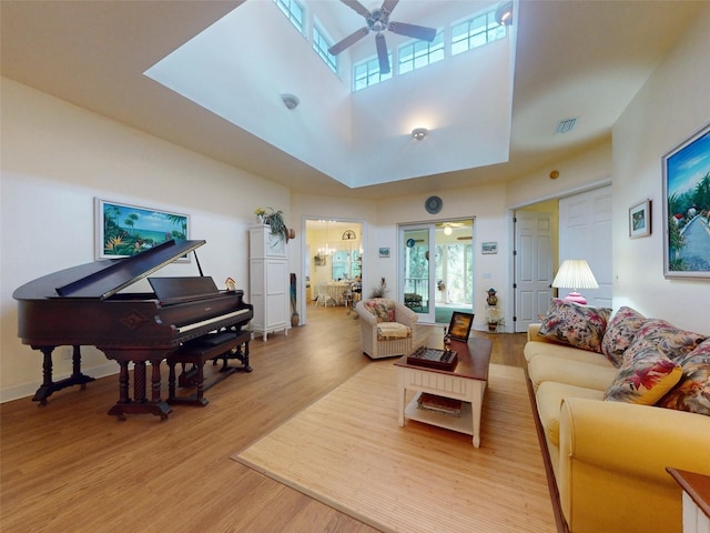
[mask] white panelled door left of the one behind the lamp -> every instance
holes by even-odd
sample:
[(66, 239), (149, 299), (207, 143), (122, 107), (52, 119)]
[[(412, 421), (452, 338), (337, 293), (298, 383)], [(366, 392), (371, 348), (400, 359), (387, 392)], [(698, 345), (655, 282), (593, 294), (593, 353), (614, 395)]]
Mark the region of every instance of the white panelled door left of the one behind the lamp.
[(515, 213), (515, 332), (528, 330), (547, 312), (551, 298), (550, 214)]

